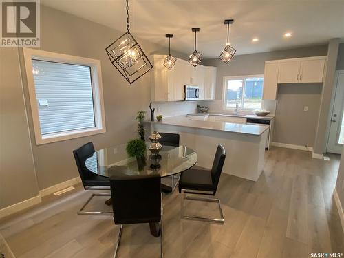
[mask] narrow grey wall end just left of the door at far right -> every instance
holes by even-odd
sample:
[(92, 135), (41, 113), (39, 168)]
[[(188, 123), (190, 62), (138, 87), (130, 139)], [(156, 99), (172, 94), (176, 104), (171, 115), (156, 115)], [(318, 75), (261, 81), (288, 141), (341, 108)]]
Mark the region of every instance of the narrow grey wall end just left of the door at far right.
[(327, 50), (326, 77), (323, 83), (323, 92), (321, 94), (321, 103), (319, 119), (316, 127), (316, 136), (314, 142), (314, 153), (322, 154), (326, 152), (326, 129), (330, 123), (330, 103), (332, 88), (334, 83), (334, 73), (336, 72), (336, 63), (338, 58), (339, 39), (330, 39)]

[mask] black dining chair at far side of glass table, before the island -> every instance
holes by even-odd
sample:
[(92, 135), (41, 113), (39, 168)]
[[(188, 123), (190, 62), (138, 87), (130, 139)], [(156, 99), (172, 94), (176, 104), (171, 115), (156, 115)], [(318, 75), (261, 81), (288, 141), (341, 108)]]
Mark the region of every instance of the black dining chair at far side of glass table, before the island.
[[(159, 133), (161, 138), (159, 140), (160, 144), (164, 146), (179, 146), (179, 134), (178, 133)], [(178, 180), (180, 175), (171, 175), (169, 177), (162, 178), (162, 191), (165, 193), (173, 192), (175, 187), (178, 185)], [(171, 183), (169, 184), (169, 181)]]

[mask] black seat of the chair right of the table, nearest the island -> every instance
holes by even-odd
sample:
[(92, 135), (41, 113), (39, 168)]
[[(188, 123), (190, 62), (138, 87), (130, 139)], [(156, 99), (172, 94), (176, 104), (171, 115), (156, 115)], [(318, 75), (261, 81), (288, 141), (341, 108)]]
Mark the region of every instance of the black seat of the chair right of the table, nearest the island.
[(202, 169), (189, 169), (180, 175), (179, 191), (181, 189), (213, 191), (211, 171)]

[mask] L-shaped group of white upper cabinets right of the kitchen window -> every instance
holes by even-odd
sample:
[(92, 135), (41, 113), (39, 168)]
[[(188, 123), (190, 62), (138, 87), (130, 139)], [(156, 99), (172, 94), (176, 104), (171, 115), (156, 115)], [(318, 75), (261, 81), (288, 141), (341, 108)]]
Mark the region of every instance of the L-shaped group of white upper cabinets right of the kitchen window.
[(278, 83), (323, 83), (327, 56), (266, 61), (263, 99), (275, 100)]

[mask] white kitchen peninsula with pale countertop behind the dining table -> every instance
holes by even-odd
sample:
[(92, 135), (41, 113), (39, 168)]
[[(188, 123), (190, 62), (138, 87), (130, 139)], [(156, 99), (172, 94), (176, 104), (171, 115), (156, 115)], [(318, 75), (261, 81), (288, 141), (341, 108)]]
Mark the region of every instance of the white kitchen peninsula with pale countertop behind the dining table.
[(211, 169), (218, 144), (226, 149), (223, 173), (257, 181), (264, 167), (268, 126), (192, 120), (186, 116), (151, 122), (152, 131), (178, 133), (180, 144), (194, 149), (197, 166)]

